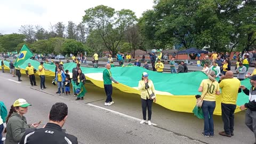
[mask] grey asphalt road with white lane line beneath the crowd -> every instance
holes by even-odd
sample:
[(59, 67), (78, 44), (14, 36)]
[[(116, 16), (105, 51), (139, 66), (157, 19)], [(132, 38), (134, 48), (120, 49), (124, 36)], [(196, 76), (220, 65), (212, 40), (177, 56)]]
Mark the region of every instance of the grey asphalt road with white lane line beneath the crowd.
[[(7, 72), (7, 71), (6, 71)], [(37, 77), (37, 84), (39, 79)], [(88, 93), (84, 100), (75, 101), (73, 95), (57, 95), (57, 87), (51, 84), (52, 78), (46, 78), (47, 89), (40, 91), (39, 86), (31, 87), (29, 79), (22, 75), (21, 83), (17, 77), (9, 73), (0, 73), (1, 101), (10, 108), (14, 100), (24, 98), (33, 106), (29, 107), (28, 123), (43, 121), (55, 102), (65, 102), (68, 105), (68, 119), (63, 127), (67, 133), (74, 134), (79, 143), (253, 143), (254, 136), (244, 124), (244, 111), (235, 114), (234, 137), (228, 138), (218, 134), (223, 130), (220, 116), (214, 115), (213, 138), (205, 138), (203, 120), (190, 113), (180, 113), (153, 105), (152, 122), (156, 126), (139, 124), (142, 118), (140, 96), (113, 91), (112, 106), (103, 106), (105, 92), (97, 86), (86, 83)], [(16, 82), (13, 82), (13, 81)], [(32, 88), (32, 89), (31, 89)], [(184, 101), (186, 102), (186, 100)], [(114, 111), (92, 106), (100, 106)], [(117, 114), (118, 111), (122, 114)], [(125, 114), (125, 115), (123, 115)], [(139, 118), (139, 119), (137, 119)]]

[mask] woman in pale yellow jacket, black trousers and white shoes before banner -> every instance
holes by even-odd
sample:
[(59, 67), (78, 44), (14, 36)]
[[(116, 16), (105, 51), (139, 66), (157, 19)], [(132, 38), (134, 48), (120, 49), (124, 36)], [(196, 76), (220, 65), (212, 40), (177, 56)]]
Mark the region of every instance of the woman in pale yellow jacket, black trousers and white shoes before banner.
[(143, 124), (146, 122), (146, 113), (148, 109), (148, 125), (152, 125), (151, 123), (151, 115), (152, 115), (152, 104), (153, 101), (156, 102), (156, 98), (150, 99), (149, 94), (155, 93), (155, 87), (153, 82), (148, 79), (148, 73), (143, 72), (142, 78), (139, 81), (138, 90), (140, 92), (140, 98), (141, 98), (141, 107), (142, 107), (142, 115), (143, 119), (140, 122), (140, 124)]

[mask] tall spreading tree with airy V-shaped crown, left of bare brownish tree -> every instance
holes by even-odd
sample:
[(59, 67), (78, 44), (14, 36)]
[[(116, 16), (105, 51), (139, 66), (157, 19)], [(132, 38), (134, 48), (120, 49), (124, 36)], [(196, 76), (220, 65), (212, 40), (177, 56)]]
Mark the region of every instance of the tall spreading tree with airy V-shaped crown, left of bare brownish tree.
[(127, 27), (133, 25), (137, 18), (131, 10), (115, 9), (99, 5), (85, 10), (83, 22), (92, 30), (97, 30), (103, 45), (110, 53), (116, 54), (117, 46), (123, 39)]

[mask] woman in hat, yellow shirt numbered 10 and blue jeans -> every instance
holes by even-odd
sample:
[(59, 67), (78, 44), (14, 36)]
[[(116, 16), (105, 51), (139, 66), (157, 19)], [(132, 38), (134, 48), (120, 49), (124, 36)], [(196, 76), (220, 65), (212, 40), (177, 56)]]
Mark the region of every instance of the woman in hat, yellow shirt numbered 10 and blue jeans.
[(198, 92), (202, 92), (201, 99), (203, 99), (204, 132), (202, 132), (202, 135), (205, 137), (213, 137), (213, 111), (216, 106), (216, 96), (220, 95), (220, 86), (215, 79), (214, 71), (210, 71), (208, 79), (203, 79), (198, 88)]

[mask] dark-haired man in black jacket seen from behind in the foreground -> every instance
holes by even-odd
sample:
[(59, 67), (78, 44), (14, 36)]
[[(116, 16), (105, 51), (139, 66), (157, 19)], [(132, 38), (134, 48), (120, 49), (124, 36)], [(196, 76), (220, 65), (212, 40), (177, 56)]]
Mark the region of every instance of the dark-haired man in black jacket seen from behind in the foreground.
[(42, 129), (27, 130), (20, 144), (78, 144), (74, 135), (62, 131), (68, 117), (68, 107), (65, 103), (55, 103), (49, 114), (49, 122)]

